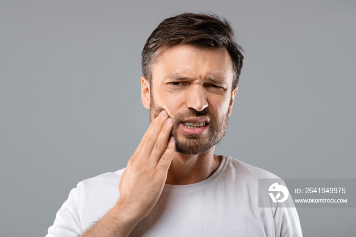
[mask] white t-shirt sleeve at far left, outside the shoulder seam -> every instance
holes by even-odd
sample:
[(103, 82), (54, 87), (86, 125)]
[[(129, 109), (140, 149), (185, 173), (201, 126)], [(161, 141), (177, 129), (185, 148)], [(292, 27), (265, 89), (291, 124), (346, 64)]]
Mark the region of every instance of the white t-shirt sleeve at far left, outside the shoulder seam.
[(63, 203), (61, 209), (57, 212), (52, 226), (48, 228), (46, 237), (52, 236), (78, 236), (80, 235), (81, 223), (77, 205), (77, 196), (79, 190), (73, 188), (68, 199)]

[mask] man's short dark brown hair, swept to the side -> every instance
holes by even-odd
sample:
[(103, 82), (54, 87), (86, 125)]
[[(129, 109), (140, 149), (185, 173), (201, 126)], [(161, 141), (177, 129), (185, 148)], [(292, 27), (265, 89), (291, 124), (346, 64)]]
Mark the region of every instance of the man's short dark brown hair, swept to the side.
[(163, 20), (147, 39), (142, 50), (142, 73), (150, 83), (159, 50), (174, 43), (206, 48), (225, 47), (232, 61), (232, 88), (238, 84), (244, 59), (243, 49), (234, 42), (232, 28), (226, 19), (220, 19), (216, 15), (183, 13)]

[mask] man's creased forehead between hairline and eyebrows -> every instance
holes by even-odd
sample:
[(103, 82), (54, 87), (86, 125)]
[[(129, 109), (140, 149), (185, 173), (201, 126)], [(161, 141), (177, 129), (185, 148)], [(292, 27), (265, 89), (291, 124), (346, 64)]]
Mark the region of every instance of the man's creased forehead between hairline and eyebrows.
[(231, 85), (231, 57), (224, 47), (205, 48), (192, 44), (175, 44), (162, 48), (152, 68), (153, 81), (158, 82), (177, 75), (190, 79), (219, 78)]

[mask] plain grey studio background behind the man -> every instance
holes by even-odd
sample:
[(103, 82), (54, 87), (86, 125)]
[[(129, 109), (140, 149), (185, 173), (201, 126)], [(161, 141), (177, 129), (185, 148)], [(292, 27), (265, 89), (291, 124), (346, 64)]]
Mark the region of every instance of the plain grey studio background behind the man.
[[(355, 1), (0, 1), (0, 235), (43, 236), (76, 184), (126, 166), (146, 128), (140, 53), (166, 17), (212, 11), (245, 49), (216, 154), (282, 178), (355, 178)], [(355, 209), (298, 209), (354, 236)]]

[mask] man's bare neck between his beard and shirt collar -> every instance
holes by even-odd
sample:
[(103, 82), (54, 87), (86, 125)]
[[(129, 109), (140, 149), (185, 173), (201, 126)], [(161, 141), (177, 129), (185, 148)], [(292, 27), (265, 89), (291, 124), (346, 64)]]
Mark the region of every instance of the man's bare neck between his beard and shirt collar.
[(201, 182), (219, 167), (222, 158), (214, 154), (214, 148), (200, 155), (183, 155), (175, 152), (168, 169), (166, 184), (188, 185)]

